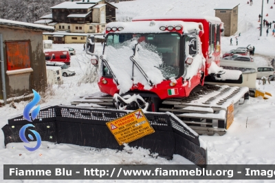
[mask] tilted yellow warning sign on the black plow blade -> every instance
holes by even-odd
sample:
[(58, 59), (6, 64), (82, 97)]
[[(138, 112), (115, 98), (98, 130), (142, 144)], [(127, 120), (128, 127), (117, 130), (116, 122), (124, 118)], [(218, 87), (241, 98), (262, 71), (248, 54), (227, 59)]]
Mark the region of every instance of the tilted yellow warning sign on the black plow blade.
[(107, 122), (106, 125), (120, 145), (133, 142), (155, 132), (144, 116), (142, 109), (137, 109), (122, 118)]

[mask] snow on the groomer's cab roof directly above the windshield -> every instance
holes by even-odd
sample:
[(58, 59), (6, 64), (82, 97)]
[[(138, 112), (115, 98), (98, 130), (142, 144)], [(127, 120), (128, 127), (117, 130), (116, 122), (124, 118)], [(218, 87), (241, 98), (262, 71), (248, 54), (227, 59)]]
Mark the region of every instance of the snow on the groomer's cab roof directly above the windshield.
[(201, 25), (201, 23), (184, 21), (153, 21), (155, 25), (151, 25), (151, 22), (152, 21), (111, 22), (107, 24), (107, 27), (124, 28), (123, 30), (116, 31), (115, 33), (163, 33), (169, 31), (159, 30), (159, 27), (168, 25), (181, 25), (184, 28), (183, 32), (188, 33), (190, 31), (199, 30), (199, 25)]

